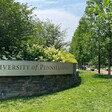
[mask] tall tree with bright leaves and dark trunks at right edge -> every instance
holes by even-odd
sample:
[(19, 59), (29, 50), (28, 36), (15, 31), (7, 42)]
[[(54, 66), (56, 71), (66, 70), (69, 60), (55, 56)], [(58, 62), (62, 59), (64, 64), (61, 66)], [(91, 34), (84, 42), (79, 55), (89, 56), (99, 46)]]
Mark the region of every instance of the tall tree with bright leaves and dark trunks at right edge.
[[(95, 35), (95, 42), (98, 48), (98, 72), (100, 73), (100, 61), (103, 52), (108, 51), (108, 74), (110, 75), (111, 66), (111, 41), (112, 41), (112, 1), (111, 0), (88, 0), (86, 7), (86, 16), (90, 19), (92, 29)], [(108, 46), (108, 48), (106, 47)], [(103, 52), (101, 53), (103, 49)], [(104, 57), (106, 58), (106, 57)]]

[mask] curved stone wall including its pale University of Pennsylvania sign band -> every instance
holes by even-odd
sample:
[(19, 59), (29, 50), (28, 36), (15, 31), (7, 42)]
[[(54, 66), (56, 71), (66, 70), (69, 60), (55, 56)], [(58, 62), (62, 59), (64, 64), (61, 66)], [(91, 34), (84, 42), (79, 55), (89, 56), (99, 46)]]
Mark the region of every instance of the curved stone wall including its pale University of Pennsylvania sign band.
[(42, 95), (79, 82), (73, 63), (0, 61), (0, 99)]

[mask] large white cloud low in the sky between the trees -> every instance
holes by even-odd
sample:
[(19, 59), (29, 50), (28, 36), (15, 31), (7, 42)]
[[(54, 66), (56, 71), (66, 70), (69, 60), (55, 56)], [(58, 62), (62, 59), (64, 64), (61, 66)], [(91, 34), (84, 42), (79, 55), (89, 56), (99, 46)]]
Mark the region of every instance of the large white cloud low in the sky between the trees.
[(54, 24), (60, 24), (62, 30), (67, 29), (66, 41), (71, 41), (73, 33), (78, 25), (79, 17), (66, 12), (63, 9), (35, 10), (34, 13), (41, 20), (51, 20)]

